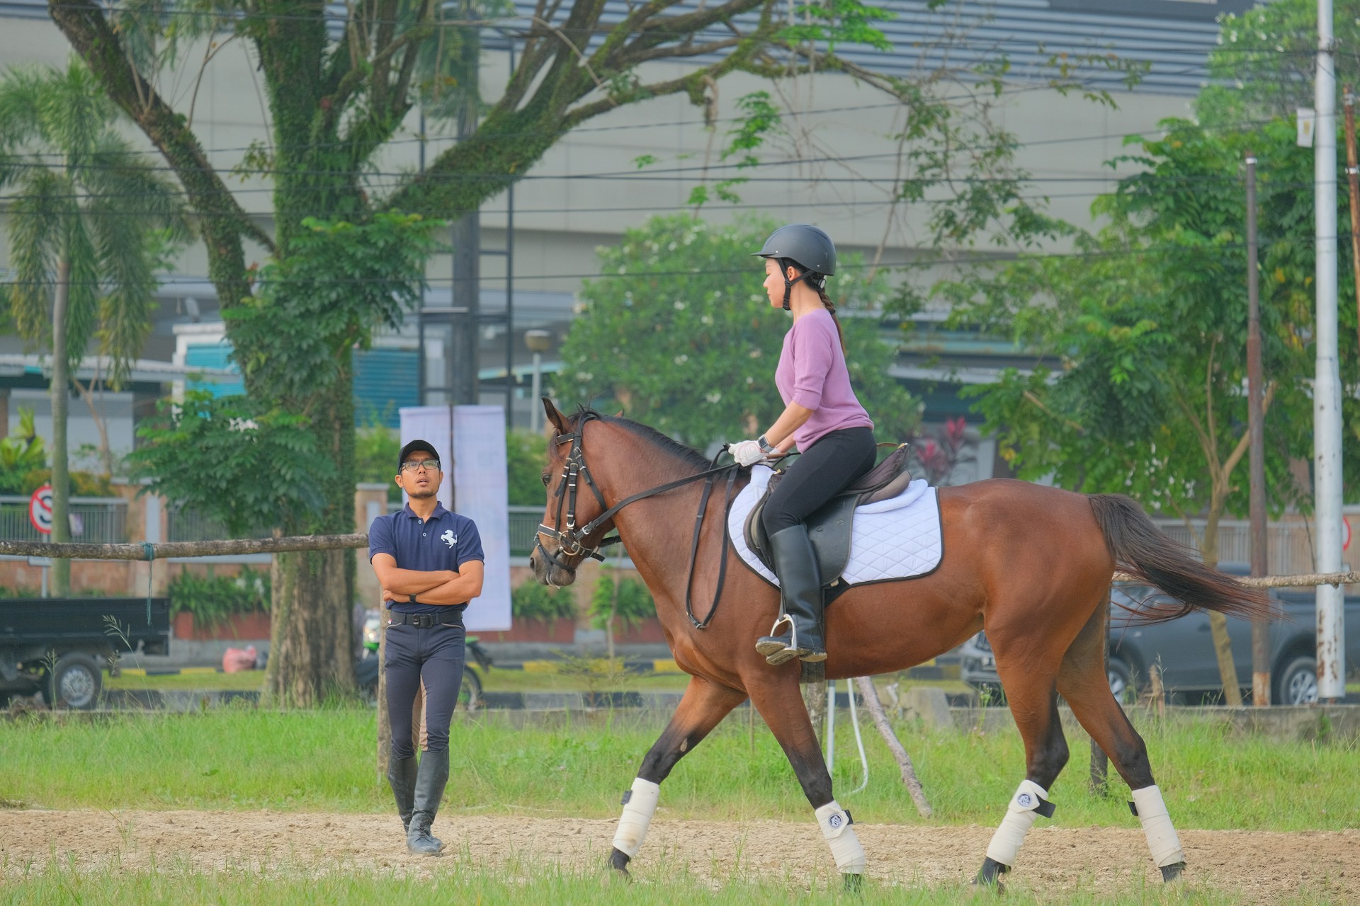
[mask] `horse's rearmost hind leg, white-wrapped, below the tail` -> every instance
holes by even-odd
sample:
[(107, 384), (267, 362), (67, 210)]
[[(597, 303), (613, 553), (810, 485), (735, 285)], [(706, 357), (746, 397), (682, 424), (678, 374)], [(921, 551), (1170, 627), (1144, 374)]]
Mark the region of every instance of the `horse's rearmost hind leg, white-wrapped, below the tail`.
[(1058, 691), (1133, 791), (1132, 807), (1142, 822), (1152, 858), (1161, 869), (1161, 879), (1171, 882), (1186, 867), (1185, 852), (1167, 804), (1161, 800), (1161, 791), (1152, 780), (1148, 747), (1110, 691), (1104, 671), (1104, 645), (1106, 622), (1102, 607), (1064, 656)]

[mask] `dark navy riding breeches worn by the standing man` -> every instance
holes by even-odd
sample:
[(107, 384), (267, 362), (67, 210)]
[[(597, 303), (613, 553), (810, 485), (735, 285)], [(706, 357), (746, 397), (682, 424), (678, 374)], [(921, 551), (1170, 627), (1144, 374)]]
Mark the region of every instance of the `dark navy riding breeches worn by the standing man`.
[(388, 674), (388, 719), (392, 721), (392, 757), (412, 758), (411, 709), (415, 706), (420, 681), (424, 681), (426, 733), (430, 751), (449, 748), (449, 721), (458, 704), (462, 664), (466, 656), (466, 630), (462, 615), (450, 614), (449, 622), (430, 629), (411, 625), (386, 628), (382, 668)]

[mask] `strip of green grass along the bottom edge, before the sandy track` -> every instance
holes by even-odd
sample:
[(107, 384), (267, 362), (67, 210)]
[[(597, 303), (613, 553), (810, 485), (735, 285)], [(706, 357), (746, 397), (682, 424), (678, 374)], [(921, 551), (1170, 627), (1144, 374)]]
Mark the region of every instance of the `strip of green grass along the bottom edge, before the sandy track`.
[[(124, 869), (118, 865), (75, 869), (53, 860), (42, 868), (0, 863), (0, 906), (56, 906), (65, 903), (137, 903), (139, 906), (369, 906), (370, 903), (589, 903), (590, 906), (673, 906), (714, 903), (715, 906), (785, 906), (787, 903), (854, 903), (855, 906), (975, 906), (1001, 902), (990, 894), (976, 894), (964, 884), (903, 884), (869, 880), (857, 895), (839, 891), (839, 877), (830, 872), (812, 882), (790, 879), (748, 880), (709, 879), (687, 865), (666, 867), (634, 884), (609, 883), (601, 872), (544, 865), (511, 865), (487, 869), (464, 857), (443, 858), (422, 872), (375, 871), (336, 865), (335, 871), (269, 869), (226, 867), (204, 872), (184, 861), (155, 865), (152, 871)], [(1138, 880), (1115, 890), (1059, 894), (1043, 883), (1024, 879), (1008, 882), (1005, 902), (1010, 906), (1123, 906), (1166, 903), (1185, 906), (1225, 906), (1243, 902), (1234, 894), (1189, 883), (1168, 895), (1160, 886)], [(1246, 901), (1250, 902), (1250, 901)], [(1331, 902), (1300, 891), (1282, 903), (1314, 906)]]

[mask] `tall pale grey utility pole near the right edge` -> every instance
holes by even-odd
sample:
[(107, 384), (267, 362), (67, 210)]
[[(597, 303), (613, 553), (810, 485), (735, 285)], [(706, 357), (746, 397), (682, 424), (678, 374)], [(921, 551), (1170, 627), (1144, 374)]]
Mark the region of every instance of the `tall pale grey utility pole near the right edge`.
[[(1315, 565), (1341, 572), (1341, 374), (1337, 352), (1337, 69), (1331, 0), (1318, 0), (1312, 145), (1316, 374), (1312, 383)], [(1341, 588), (1318, 585), (1318, 700), (1345, 697)]]

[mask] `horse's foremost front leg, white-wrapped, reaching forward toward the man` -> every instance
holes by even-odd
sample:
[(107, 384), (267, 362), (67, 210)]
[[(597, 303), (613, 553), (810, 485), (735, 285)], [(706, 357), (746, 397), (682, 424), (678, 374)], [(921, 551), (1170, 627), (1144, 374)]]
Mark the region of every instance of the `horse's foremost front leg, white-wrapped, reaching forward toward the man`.
[(647, 825), (657, 811), (661, 781), (695, 746), (726, 717), (733, 708), (747, 700), (747, 694), (700, 676), (691, 676), (684, 697), (670, 717), (670, 723), (642, 759), (632, 789), (623, 795), (623, 815), (613, 835), (609, 868), (628, 875), (628, 863), (647, 835)]

